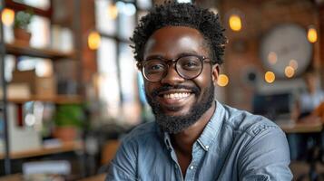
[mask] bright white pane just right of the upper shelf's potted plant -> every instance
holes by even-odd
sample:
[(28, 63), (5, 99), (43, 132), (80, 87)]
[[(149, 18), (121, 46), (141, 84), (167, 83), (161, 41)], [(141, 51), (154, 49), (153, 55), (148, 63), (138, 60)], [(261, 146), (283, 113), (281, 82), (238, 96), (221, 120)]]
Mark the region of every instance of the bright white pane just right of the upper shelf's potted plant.
[(34, 15), (29, 25), (32, 33), (31, 46), (44, 48), (50, 45), (50, 23), (47, 18)]

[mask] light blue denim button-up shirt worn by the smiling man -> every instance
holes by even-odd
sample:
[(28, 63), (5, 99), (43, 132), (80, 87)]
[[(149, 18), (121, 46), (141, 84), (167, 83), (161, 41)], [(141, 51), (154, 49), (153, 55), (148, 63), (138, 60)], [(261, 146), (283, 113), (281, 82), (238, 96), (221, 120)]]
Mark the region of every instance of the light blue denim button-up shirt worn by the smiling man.
[(216, 103), (192, 146), (185, 176), (170, 135), (150, 122), (123, 138), (106, 180), (291, 180), (290, 152), (282, 130), (269, 119)]

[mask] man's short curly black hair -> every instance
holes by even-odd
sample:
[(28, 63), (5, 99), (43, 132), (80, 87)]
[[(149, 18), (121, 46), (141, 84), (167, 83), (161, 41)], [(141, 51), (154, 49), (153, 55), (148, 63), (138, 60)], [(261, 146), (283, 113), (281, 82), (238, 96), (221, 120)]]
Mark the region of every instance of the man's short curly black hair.
[(134, 58), (137, 62), (143, 60), (145, 43), (156, 30), (168, 26), (188, 26), (201, 32), (210, 47), (211, 62), (221, 64), (227, 42), (221, 26), (218, 14), (197, 5), (186, 3), (166, 2), (163, 5), (155, 5), (149, 14), (140, 20), (133, 32), (131, 41), (134, 49)]

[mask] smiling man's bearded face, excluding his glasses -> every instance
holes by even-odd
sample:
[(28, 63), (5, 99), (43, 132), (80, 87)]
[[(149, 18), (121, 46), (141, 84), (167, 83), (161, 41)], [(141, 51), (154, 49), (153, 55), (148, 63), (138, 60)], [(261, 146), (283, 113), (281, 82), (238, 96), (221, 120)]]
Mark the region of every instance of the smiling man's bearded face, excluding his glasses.
[[(185, 26), (166, 26), (149, 38), (145, 45), (144, 60), (160, 56), (177, 59), (184, 53), (209, 57), (209, 48), (201, 33)], [(208, 60), (210, 61), (210, 60)], [(174, 69), (174, 63), (161, 81), (144, 81), (145, 93), (157, 123), (164, 131), (178, 133), (194, 124), (211, 108), (218, 65), (203, 63), (201, 74), (183, 79)]]

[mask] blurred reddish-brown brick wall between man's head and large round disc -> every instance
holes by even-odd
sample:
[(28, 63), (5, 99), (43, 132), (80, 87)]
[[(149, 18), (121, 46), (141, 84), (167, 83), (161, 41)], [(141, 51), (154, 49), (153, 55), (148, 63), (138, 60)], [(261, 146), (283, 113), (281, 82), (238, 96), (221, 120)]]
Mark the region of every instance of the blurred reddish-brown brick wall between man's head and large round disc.
[[(246, 81), (246, 77), (248, 71), (254, 70), (259, 72), (259, 78), (263, 79), (265, 70), (259, 56), (262, 36), (281, 23), (295, 23), (305, 29), (313, 24), (319, 29), (318, 9), (309, 0), (223, 0), (220, 5), (221, 19), (229, 38), (222, 71), (225, 71), (231, 80), (229, 86), (221, 89), (226, 89), (227, 103), (251, 110), (255, 87)], [(242, 16), (242, 30), (239, 33), (232, 32), (228, 25), (232, 11), (237, 11)], [(315, 43), (314, 63), (319, 60), (319, 43)]]

